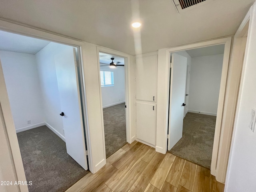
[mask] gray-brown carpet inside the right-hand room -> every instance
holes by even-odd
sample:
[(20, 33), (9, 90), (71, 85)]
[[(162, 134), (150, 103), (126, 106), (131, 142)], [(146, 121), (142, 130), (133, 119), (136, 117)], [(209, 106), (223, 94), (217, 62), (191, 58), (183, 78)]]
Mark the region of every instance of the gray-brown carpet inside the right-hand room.
[(210, 169), (216, 116), (187, 113), (183, 136), (168, 152)]

